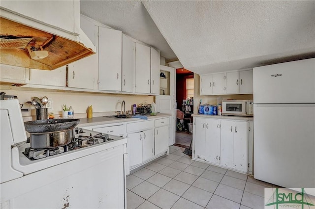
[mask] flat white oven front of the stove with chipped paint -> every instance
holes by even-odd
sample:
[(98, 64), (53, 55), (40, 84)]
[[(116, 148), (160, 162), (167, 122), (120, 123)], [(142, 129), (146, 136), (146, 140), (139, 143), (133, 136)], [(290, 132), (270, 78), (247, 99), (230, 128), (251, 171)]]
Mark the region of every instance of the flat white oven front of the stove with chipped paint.
[(0, 190), (2, 208), (126, 208), (123, 145), (1, 183)]

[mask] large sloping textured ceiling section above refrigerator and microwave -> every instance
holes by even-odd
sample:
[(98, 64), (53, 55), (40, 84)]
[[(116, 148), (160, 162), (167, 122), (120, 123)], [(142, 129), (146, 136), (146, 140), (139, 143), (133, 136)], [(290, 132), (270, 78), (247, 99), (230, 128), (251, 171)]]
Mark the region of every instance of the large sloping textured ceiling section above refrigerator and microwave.
[(315, 57), (315, 1), (143, 1), (197, 74)]

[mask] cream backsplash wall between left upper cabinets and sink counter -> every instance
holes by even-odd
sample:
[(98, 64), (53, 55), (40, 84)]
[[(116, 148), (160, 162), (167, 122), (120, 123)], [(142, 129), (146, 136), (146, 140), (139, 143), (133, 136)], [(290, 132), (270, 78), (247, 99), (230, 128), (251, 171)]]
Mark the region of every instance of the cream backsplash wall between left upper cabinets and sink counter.
[[(21, 87), (19, 87), (21, 88)], [(139, 96), (139, 95), (116, 95), (116, 94), (99, 94), (99, 93), (72, 93), (72, 92), (52, 92), (52, 91), (25, 91), (25, 90), (4, 90), (5, 95), (15, 95), (18, 97), (20, 104), (24, 104), (23, 108), (30, 108), (30, 112), (22, 112), (22, 115), (27, 120), (35, 120), (35, 109), (31, 104), (26, 104), (32, 101), (32, 97), (42, 98), (48, 97), (52, 100), (52, 109), (48, 112), (53, 112), (55, 116), (62, 114), (62, 106), (72, 106), (74, 109), (74, 117), (87, 117), (86, 110), (89, 105), (93, 105), (93, 116), (103, 116), (113, 114), (114, 111), (121, 110), (121, 103), (124, 100), (126, 103), (126, 110), (131, 110), (132, 104), (140, 104), (147, 102), (151, 104), (154, 96)], [(32, 116), (32, 119), (30, 117)]]

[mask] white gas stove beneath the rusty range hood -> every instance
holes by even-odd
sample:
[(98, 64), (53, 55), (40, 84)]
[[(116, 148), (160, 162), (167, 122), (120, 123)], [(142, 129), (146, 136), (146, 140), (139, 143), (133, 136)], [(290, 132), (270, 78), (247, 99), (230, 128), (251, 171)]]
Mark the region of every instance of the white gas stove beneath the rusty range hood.
[(1, 100), (0, 118), (1, 209), (126, 208), (126, 138), (75, 129), (67, 145), (32, 149), (18, 100)]

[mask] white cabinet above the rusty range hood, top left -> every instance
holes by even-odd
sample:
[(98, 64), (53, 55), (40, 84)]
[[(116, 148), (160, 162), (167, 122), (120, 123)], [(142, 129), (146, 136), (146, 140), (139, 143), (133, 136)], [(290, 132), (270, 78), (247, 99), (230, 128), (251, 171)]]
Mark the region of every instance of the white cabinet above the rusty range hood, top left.
[(80, 33), (80, 1), (77, 0), (3, 0), (1, 7), (19, 16), (74, 35)]

